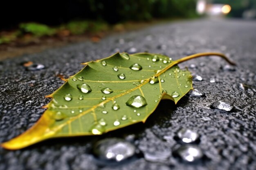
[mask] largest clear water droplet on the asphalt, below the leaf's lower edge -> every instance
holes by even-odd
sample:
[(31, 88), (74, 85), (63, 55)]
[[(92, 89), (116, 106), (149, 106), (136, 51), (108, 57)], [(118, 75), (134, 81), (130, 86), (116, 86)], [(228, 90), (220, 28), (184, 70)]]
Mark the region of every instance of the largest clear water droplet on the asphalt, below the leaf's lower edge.
[(135, 146), (124, 139), (103, 139), (94, 146), (93, 152), (104, 160), (122, 161), (135, 154)]

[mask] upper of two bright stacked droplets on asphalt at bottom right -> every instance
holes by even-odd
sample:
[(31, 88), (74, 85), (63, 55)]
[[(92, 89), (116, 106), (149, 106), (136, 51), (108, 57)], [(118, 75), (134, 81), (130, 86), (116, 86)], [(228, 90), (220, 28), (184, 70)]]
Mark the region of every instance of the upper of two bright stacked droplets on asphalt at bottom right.
[(178, 131), (177, 133), (178, 137), (184, 142), (184, 143), (191, 143), (198, 139), (199, 135), (197, 132), (190, 130), (190, 129), (184, 129)]

